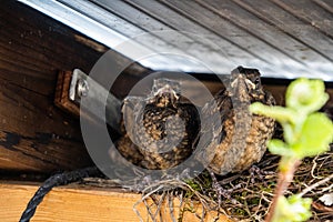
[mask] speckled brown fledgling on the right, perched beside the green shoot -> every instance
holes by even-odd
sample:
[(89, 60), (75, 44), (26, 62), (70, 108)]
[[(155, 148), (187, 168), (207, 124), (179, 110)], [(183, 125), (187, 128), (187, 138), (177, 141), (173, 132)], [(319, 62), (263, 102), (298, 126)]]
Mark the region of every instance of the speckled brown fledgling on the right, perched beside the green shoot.
[(275, 125), (271, 118), (251, 114), (249, 105), (256, 101), (273, 105), (275, 100), (263, 90), (259, 70), (243, 67), (232, 71), (229, 85), (214, 99), (202, 110), (204, 122), (210, 122), (202, 123), (210, 133), (201, 143), (206, 145), (209, 169), (221, 175), (246, 170), (261, 160)]

